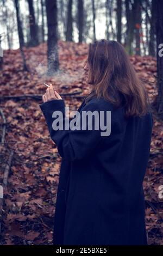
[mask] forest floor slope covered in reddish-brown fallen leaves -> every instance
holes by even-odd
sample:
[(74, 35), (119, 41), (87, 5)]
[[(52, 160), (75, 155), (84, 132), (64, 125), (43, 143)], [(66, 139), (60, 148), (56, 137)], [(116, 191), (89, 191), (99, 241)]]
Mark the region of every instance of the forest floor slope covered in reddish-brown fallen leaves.
[[(52, 245), (61, 157), (49, 137), (39, 107), (42, 100), (4, 96), (42, 95), (46, 90), (43, 82), (52, 83), (58, 93), (87, 94), (89, 87), (83, 72), (87, 45), (59, 41), (60, 71), (55, 77), (46, 76), (46, 44), (25, 48), (24, 52), (30, 72), (22, 70), (19, 50), (4, 51), (4, 68), (0, 72), (0, 138), (6, 119), (5, 143), (0, 144), (0, 184), (12, 160), (4, 188), (0, 245)], [(152, 102), (156, 97), (155, 58), (132, 56), (130, 59), (145, 82)], [(63, 99), (70, 110), (77, 110), (82, 103), (77, 96), (63, 96)], [(154, 109), (153, 118), (151, 154), (143, 182), (146, 228), (149, 245), (163, 245), (163, 199), (159, 198), (163, 185), (163, 122)]]

